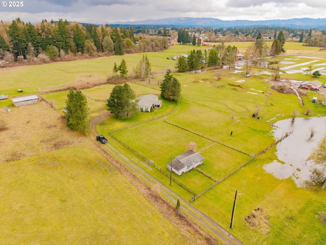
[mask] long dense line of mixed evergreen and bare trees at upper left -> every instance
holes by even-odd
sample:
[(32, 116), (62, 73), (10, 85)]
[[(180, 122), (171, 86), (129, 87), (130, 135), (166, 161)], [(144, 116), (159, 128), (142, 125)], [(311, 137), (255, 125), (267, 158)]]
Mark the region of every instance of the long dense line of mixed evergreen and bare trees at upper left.
[(34, 60), (41, 54), (49, 59), (81, 54), (123, 55), (155, 52), (168, 46), (167, 37), (135, 37), (131, 27), (96, 26), (63, 19), (57, 22), (43, 19), (36, 24), (24, 23), (19, 18), (0, 21), (0, 59), (8, 62)]

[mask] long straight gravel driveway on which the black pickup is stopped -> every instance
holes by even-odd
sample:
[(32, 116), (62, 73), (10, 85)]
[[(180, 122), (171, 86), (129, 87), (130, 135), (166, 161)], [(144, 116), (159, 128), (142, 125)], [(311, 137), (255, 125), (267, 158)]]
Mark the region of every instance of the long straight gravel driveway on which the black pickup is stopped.
[[(105, 118), (107, 116), (110, 116), (110, 112), (105, 112), (103, 115), (100, 115), (98, 117), (95, 117), (92, 120), (92, 129), (95, 134), (97, 134), (96, 131), (96, 124), (99, 120), (102, 118)], [(114, 148), (113, 145), (110, 143), (106, 143), (103, 145), (104, 148), (117, 160), (123, 162), (125, 165), (128, 166), (129, 169), (132, 169), (132, 171), (137, 174), (138, 176), (142, 177), (146, 181), (148, 181), (151, 184), (158, 183), (161, 188), (161, 192), (166, 195), (169, 199), (179, 199), (181, 203), (181, 208), (188, 213), (189, 215), (193, 216), (199, 223), (201, 223), (204, 227), (206, 227), (208, 230), (210, 230), (214, 235), (219, 237), (221, 240), (223, 240), (227, 244), (240, 244), (244, 245), (240, 240), (235, 238), (233, 235), (231, 235), (227, 230), (222, 228), (219, 224), (215, 223), (212, 219), (207, 217), (204, 213), (202, 213), (200, 210), (189, 204), (187, 201), (179, 197), (179, 195), (175, 194), (173, 191), (171, 191), (169, 188), (167, 188), (165, 185), (160, 183), (158, 180), (156, 180), (154, 177), (152, 177), (150, 174), (148, 174), (145, 170), (143, 170), (140, 166), (138, 166), (136, 163), (134, 163), (132, 160), (127, 158), (125, 155), (123, 155), (121, 152), (119, 152), (116, 148)], [(186, 208), (184, 207), (186, 206)], [(218, 232), (217, 230), (220, 232)], [(222, 235), (223, 233), (224, 235)]]

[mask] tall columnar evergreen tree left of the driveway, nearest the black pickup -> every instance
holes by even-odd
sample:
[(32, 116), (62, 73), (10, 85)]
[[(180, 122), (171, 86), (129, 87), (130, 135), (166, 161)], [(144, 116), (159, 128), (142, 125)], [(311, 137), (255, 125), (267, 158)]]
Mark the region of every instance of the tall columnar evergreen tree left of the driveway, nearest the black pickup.
[(69, 90), (66, 100), (67, 126), (77, 132), (86, 133), (89, 130), (86, 96), (81, 91)]

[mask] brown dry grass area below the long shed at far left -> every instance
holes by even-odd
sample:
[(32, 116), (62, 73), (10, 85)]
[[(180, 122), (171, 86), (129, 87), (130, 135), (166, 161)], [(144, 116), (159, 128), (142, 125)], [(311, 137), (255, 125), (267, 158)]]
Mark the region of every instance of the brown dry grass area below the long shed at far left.
[(6, 125), (6, 130), (0, 130), (0, 162), (76, 145), (85, 138), (69, 130), (62, 115), (45, 102), (14, 107), (11, 112), (0, 109), (0, 118)]

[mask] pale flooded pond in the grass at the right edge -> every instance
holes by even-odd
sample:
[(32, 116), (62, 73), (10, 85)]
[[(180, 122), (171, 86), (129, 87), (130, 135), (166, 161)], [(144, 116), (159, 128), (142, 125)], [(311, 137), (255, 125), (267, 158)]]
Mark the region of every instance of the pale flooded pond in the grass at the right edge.
[[(273, 130), (276, 139), (281, 138), (286, 132), (293, 130), (293, 133), (277, 144), (276, 155), (280, 162), (271, 162), (263, 168), (278, 179), (291, 177), (297, 186), (302, 187), (304, 181), (308, 180), (310, 169), (314, 165), (307, 159), (318, 142), (326, 135), (326, 117), (295, 118), (293, 124), (291, 119), (286, 119), (274, 125), (278, 127)], [(310, 137), (311, 130), (314, 131), (313, 137)]]

